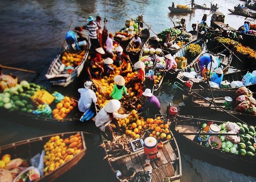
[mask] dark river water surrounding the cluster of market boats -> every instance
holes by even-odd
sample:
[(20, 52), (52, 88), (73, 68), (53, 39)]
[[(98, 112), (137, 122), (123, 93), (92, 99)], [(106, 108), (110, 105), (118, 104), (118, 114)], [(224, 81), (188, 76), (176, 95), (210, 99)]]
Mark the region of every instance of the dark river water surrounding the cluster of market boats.
[[(186, 5), (189, 1), (174, 1), (175, 4)], [(207, 7), (210, 7), (210, 0), (203, 1)], [(197, 1), (197, 4), (203, 4)], [(89, 15), (106, 17), (108, 23), (106, 27), (114, 33), (121, 29), (126, 16), (135, 18), (143, 15), (143, 20), (148, 24), (153, 32), (159, 33), (162, 30), (173, 27), (168, 15), (172, 20), (179, 21), (182, 17), (187, 19), (187, 30), (191, 30), (192, 23), (200, 22), (204, 13), (210, 14), (210, 11), (196, 10), (191, 14), (169, 14), (172, 1), (155, 0), (8, 0), (0, 1), (0, 64), (5, 66), (19, 67), (27, 70), (34, 70), (39, 75), (35, 78), (37, 84), (51, 87), (45, 78), (45, 74), (50, 63), (61, 51), (65, 32), (68, 30), (71, 20), (72, 28), (82, 26)], [(239, 0), (215, 0), (212, 3), (218, 3), (219, 11), (223, 12), (225, 23), (231, 27), (240, 27), (245, 20), (256, 23), (254, 19), (245, 18), (237, 15), (230, 15), (227, 8), (233, 9), (234, 5), (241, 4)], [(106, 13), (105, 13), (106, 7)], [(207, 18), (207, 24), (210, 25), (210, 17)], [(102, 22), (103, 24), (103, 22)], [(146, 25), (144, 25), (146, 27)], [(153, 35), (151, 31), (151, 35)], [(84, 33), (87, 33), (86, 31)], [(31, 75), (31, 78), (35, 75)], [(63, 93), (78, 97), (77, 88), (82, 87), (84, 82), (83, 73), (79, 79), (68, 87), (52, 87), (54, 90), (62, 90)], [(158, 95), (162, 111), (165, 113), (168, 103), (174, 103), (175, 106), (183, 105), (181, 100), (175, 95), (160, 93)], [(24, 121), (24, 123), (23, 123)], [(26, 124), (22, 118), (14, 120), (1, 113), (0, 119), (0, 146), (39, 137), (48, 134), (55, 134), (66, 131), (87, 131), (96, 133), (93, 136), (87, 136), (87, 154), (71, 170), (56, 179), (56, 181), (115, 181), (115, 177), (110, 171), (106, 161), (103, 149), (98, 147), (99, 135), (94, 123), (77, 123), (61, 126), (46, 126), (45, 124)], [(196, 151), (193, 151), (196, 153)], [(182, 154), (182, 151), (181, 151)], [(221, 161), (220, 161), (221, 162)], [(237, 166), (237, 168), (246, 166)], [(248, 169), (255, 170), (255, 169)], [(181, 182), (187, 181), (256, 181), (256, 178), (235, 173), (221, 167), (213, 166), (191, 158), (189, 155), (182, 154), (182, 178)]]

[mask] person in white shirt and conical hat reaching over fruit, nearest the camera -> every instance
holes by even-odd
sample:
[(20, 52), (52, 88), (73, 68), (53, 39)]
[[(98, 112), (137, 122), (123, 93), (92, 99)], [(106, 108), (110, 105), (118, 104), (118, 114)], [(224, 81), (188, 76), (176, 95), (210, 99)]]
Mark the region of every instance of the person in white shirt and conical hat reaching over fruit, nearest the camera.
[[(112, 128), (110, 126), (110, 122), (112, 122), (112, 120), (114, 120), (115, 118), (122, 119), (131, 115), (131, 113), (118, 114), (117, 111), (120, 108), (120, 106), (121, 106), (121, 103), (119, 100), (116, 100), (116, 99), (109, 100), (109, 102), (106, 103), (105, 107), (103, 107), (98, 112), (98, 114), (94, 117), (95, 125), (101, 131), (104, 131), (109, 138), (112, 138), (112, 139), (113, 139), (113, 133), (112, 133)], [(116, 123), (114, 124), (118, 127), (118, 123), (117, 124)]]

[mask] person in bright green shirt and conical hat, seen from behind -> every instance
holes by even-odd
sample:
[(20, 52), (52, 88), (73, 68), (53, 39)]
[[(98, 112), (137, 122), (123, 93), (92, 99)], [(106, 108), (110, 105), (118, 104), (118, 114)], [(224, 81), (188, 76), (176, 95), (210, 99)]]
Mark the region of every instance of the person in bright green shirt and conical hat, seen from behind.
[(126, 87), (125, 87), (125, 79), (121, 75), (114, 76), (114, 87), (112, 93), (109, 95), (113, 99), (120, 100), (123, 96), (123, 91), (125, 95), (129, 95), (127, 93)]

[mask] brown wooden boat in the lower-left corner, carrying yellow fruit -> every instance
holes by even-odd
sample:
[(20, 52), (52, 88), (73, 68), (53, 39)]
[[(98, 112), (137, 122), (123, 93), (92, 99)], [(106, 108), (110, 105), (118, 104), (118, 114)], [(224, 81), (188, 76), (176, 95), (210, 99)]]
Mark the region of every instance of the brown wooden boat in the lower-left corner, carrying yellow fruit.
[[(81, 158), (86, 154), (86, 142), (85, 142), (85, 138), (84, 138), (84, 132), (65, 132), (65, 133), (60, 133), (60, 134), (54, 134), (54, 135), (47, 135), (47, 136), (43, 136), (43, 137), (38, 137), (38, 138), (32, 138), (32, 139), (28, 139), (25, 141), (19, 141), (19, 142), (15, 142), (12, 143), (10, 145), (5, 145), (5, 146), (1, 146), (0, 147), (0, 157), (2, 158), (5, 154), (10, 155), (11, 159), (14, 159), (14, 161), (16, 160), (16, 165), (12, 165), (8, 166), (8, 164), (5, 166), (5, 169), (10, 169), (12, 171), (14, 171), (14, 173), (16, 173), (15, 171), (19, 171), (22, 172), (22, 169), (26, 169), (26, 167), (31, 166), (32, 164), (30, 164), (30, 161), (28, 161), (28, 165), (24, 166), (23, 163), (25, 162), (25, 160), (30, 160), (31, 158), (33, 158), (35, 155), (37, 155), (38, 153), (41, 154), (42, 157), (42, 170), (45, 169), (46, 171), (44, 171), (44, 175), (41, 176), (39, 179), (35, 178), (36, 181), (53, 181), (54, 179), (58, 178), (60, 175), (62, 175), (63, 173), (65, 173), (66, 171), (68, 171), (69, 169), (71, 169), (72, 167), (74, 167), (80, 160)], [(58, 137), (57, 137), (58, 136)], [(49, 144), (49, 141), (52, 141), (53, 143), (56, 142), (60, 142), (59, 139), (62, 139), (63, 141), (60, 143), (64, 143), (64, 139), (71, 139), (71, 136), (79, 136), (80, 137), (80, 142), (79, 142), (79, 150), (78, 151), (74, 151), (74, 150), (70, 150), (69, 152), (73, 151), (73, 154), (70, 153), (70, 156), (65, 160), (65, 158), (63, 157), (59, 157), (59, 160), (57, 160), (57, 158), (55, 158), (55, 161), (52, 161), (50, 159), (50, 157), (48, 157), (48, 155), (53, 154), (52, 149), (50, 150), (49, 148), (46, 148), (47, 145), (50, 145), (53, 147), (53, 149), (55, 149), (55, 147), (53, 146), (53, 144)], [(48, 143), (48, 144), (47, 144)], [(55, 144), (54, 144), (55, 145)], [(59, 145), (59, 144), (58, 144)], [(70, 146), (69, 144), (66, 145), (67, 148), (73, 148), (72, 146)], [(44, 153), (42, 151), (48, 149), (48, 153)], [(75, 153), (75, 154), (74, 154)], [(55, 155), (55, 154), (54, 154)], [(6, 155), (5, 155), (6, 156)], [(52, 156), (52, 155), (51, 155)], [(67, 155), (66, 155), (67, 156)], [(38, 161), (39, 163), (39, 159), (40, 159), (40, 155), (39, 158), (34, 159), (35, 161)], [(45, 160), (45, 161), (44, 161)], [(14, 161), (11, 161), (10, 163), (13, 163)], [(23, 163), (20, 163), (19, 161), (23, 161)], [(41, 160), (40, 160), (41, 161)], [(61, 162), (59, 162), (61, 161)], [(53, 162), (54, 166), (53, 169), (50, 169), (49, 164), (46, 163), (49, 162)], [(58, 163), (58, 165), (57, 165)], [(14, 167), (16, 166), (16, 167)], [(19, 167), (20, 166), (20, 167)], [(57, 167), (59, 166), (59, 167)], [(34, 168), (35, 169), (35, 168)], [(37, 171), (37, 169), (35, 169), (35, 171)], [(17, 176), (18, 179), (18, 175), (20, 174), (16, 173), (16, 175), (14, 177)], [(27, 176), (28, 174), (23, 175), (23, 178), (31, 178), (31, 176)], [(27, 176), (27, 177), (26, 177)], [(36, 175), (36, 177), (38, 177), (38, 175)], [(34, 179), (34, 178), (33, 178)], [(32, 181), (32, 179), (30, 179)]]

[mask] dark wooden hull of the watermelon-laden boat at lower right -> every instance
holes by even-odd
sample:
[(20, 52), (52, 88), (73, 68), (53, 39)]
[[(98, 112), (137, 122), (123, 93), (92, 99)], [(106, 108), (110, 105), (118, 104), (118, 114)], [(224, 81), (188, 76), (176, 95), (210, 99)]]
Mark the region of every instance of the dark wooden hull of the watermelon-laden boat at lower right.
[[(203, 123), (207, 123), (208, 121), (214, 120), (196, 116), (177, 116), (174, 122), (170, 124), (170, 129), (173, 131), (182, 153), (189, 154), (196, 159), (212, 163), (215, 166), (221, 166), (225, 169), (230, 169), (238, 173), (255, 176), (255, 173), (253, 173), (252, 170), (248, 170), (255, 167), (255, 156), (250, 157), (249, 155), (243, 156), (241, 154), (232, 154), (230, 152), (223, 151), (221, 148), (216, 149), (211, 146), (204, 145), (205, 142), (199, 142), (195, 139), (196, 135), (193, 133), (197, 133), (202, 129)], [(230, 122), (233, 121), (230, 120)], [(214, 123), (219, 125), (226, 122), (214, 121)], [(240, 150), (239, 146), (237, 150)]]

